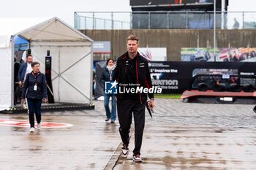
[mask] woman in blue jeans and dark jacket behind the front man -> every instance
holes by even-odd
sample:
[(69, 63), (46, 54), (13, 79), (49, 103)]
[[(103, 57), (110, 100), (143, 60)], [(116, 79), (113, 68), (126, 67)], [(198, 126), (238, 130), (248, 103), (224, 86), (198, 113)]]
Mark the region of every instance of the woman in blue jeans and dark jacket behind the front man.
[[(103, 70), (102, 75), (100, 77), (100, 81), (105, 86), (105, 82), (109, 82), (113, 80), (113, 74), (114, 74), (114, 61), (112, 58), (109, 58), (107, 61), (107, 66)], [(109, 100), (111, 97), (111, 112), (109, 108)], [(105, 121), (108, 122), (108, 120), (111, 119), (111, 123), (115, 123), (116, 120), (116, 96), (114, 94), (106, 94), (104, 91), (104, 107), (106, 110), (106, 118)]]

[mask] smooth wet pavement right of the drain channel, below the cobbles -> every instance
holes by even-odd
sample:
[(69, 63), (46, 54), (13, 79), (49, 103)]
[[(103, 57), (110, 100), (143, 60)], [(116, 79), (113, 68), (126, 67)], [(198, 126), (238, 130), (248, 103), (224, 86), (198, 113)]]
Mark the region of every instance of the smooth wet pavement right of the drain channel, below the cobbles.
[(143, 163), (134, 163), (129, 152), (127, 157), (119, 156), (114, 169), (255, 169), (255, 132), (150, 124), (144, 133)]

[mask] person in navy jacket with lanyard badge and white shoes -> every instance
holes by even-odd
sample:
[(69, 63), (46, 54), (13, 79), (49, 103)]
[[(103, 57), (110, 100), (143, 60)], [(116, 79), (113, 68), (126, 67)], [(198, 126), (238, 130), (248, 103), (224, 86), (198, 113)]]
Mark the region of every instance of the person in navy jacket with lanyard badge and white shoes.
[(40, 63), (33, 62), (31, 63), (31, 67), (33, 71), (26, 74), (21, 93), (21, 101), (24, 102), (26, 94), (29, 105), (30, 132), (34, 132), (34, 113), (37, 117), (37, 129), (41, 128), (41, 104), (42, 100), (44, 102), (47, 101), (47, 89), (45, 74), (39, 71)]

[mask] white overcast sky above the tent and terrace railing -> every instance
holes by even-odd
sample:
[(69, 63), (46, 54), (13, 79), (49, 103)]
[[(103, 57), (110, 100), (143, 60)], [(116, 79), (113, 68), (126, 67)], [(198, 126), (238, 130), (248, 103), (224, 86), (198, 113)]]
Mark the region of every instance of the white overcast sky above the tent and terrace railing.
[[(255, 0), (229, 0), (229, 11), (256, 11)], [(0, 18), (58, 17), (74, 25), (74, 12), (130, 12), (129, 0), (1, 1)]]

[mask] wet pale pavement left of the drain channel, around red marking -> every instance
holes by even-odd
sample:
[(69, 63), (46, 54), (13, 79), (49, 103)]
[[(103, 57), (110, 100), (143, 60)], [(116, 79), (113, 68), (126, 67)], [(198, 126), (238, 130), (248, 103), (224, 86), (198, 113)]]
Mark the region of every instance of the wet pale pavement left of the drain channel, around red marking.
[[(27, 120), (26, 115), (0, 118)], [(0, 126), (0, 169), (103, 169), (120, 143), (117, 125), (102, 116), (42, 116), (42, 121), (71, 123), (69, 128)]]

